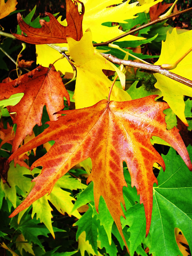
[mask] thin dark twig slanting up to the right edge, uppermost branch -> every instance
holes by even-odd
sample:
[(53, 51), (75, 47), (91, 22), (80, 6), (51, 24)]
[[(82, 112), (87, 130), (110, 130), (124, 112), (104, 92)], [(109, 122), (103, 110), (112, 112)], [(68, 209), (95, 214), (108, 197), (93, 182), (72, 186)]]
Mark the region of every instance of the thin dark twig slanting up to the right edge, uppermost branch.
[(115, 37), (115, 38), (112, 38), (112, 39), (110, 39), (110, 40), (108, 40), (108, 41), (106, 41), (106, 42), (98, 43), (98, 44), (93, 44), (93, 46), (94, 46), (94, 47), (95, 47), (95, 46), (107, 46), (108, 44), (111, 44), (111, 43), (117, 41), (118, 39), (123, 38), (123, 37), (125, 37), (125, 36), (127, 36), (127, 35), (130, 35), (130, 34), (132, 34), (132, 33), (135, 33), (135, 32), (137, 32), (137, 31), (139, 31), (139, 30), (141, 30), (141, 29), (143, 29), (143, 28), (149, 27), (149, 26), (151, 26), (151, 25), (153, 25), (153, 24), (159, 23), (159, 22), (161, 22), (161, 21), (163, 21), (163, 20), (170, 19), (170, 18), (172, 18), (172, 17), (175, 17), (175, 16), (177, 16), (177, 15), (180, 15), (180, 14), (183, 14), (183, 13), (189, 12), (189, 11), (192, 11), (192, 7), (191, 7), (191, 8), (188, 8), (188, 9), (186, 9), (186, 10), (183, 10), (183, 11), (175, 12), (175, 13), (173, 13), (173, 14), (171, 14), (171, 15), (168, 15), (167, 17), (158, 18), (158, 19), (156, 19), (156, 20), (154, 20), (154, 21), (151, 21), (151, 22), (149, 22), (149, 23), (147, 23), (147, 24), (145, 24), (145, 25), (142, 25), (142, 26), (140, 26), (140, 27), (138, 27), (138, 28), (132, 29), (132, 30), (128, 31), (128, 32), (125, 33), (125, 34), (122, 34), (122, 35), (120, 35), (120, 36), (117, 36), (117, 37)]

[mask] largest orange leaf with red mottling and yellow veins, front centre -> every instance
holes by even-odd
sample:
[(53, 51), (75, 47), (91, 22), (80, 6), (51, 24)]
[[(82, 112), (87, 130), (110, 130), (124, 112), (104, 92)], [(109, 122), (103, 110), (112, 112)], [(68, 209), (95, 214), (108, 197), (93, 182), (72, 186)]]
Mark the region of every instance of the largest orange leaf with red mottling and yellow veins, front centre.
[(11, 161), (31, 148), (55, 140), (47, 154), (31, 166), (31, 170), (43, 166), (42, 173), (33, 180), (36, 182), (33, 190), (10, 217), (46, 193), (51, 193), (60, 177), (75, 164), (91, 157), (93, 168), (87, 183), (94, 183), (95, 208), (98, 211), (102, 195), (125, 241), (120, 222), (120, 216), (124, 216), (121, 203), (125, 207), (122, 189), (123, 186), (127, 186), (123, 174), (125, 161), (131, 175), (131, 185), (136, 186), (140, 194), (140, 203), (144, 204), (148, 234), (153, 184), (157, 183), (153, 174), (153, 164), (157, 162), (165, 170), (164, 161), (150, 143), (150, 138), (163, 138), (177, 150), (186, 165), (192, 169), (179, 130), (175, 127), (171, 130), (166, 129), (163, 110), (168, 108), (168, 104), (155, 102), (155, 97), (156, 95), (150, 95), (124, 102), (101, 100), (88, 108), (59, 111), (58, 113), (66, 116), (59, 117), (57, 121), (47, 122), (49, 127), (42, 134), (19, 148), (9, 158)]

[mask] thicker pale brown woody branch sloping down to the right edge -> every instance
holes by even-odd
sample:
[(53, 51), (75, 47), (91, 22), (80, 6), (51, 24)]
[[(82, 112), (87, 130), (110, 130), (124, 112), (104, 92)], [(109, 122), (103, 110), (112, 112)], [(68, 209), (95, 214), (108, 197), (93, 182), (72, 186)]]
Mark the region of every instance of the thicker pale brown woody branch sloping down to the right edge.
[(137, 68), (142, 68), (145, 70), (152, 71), (153, 73), (159, 73), (164, 76), (167, 76), (177, 82), (183, 83), (189, 87), (192, 88), (192, 81), (189, 79), (186, 79), (185, 77), (182, 77), (180, 75), (174, 74), (164, 68), (162, 68), (160, 65), (150, 65), (150, 64), (145, 64), (145, 63), (140, 63), (140, 62), (134, 62), (134, 61), (125, 61), (121, 60), (119, 58), (116, 58), (115, 56), (111, 54), (105, 54), (105, 53), (100, 53), (104, 58), (106, 58), (108, 61), (121, 65), (123, 64), (124, 66), (130, 66), (130, 67), (137, 67)]

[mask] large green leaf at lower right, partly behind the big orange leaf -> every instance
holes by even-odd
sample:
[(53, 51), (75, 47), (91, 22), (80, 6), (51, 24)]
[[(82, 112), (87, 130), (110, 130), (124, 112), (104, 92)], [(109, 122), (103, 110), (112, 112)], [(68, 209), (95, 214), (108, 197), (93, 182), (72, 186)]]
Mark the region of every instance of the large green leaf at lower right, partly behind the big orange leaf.
[[(192, 147), (188, 147), (189, 155), (192, 155)], [(153, 255), (181, 255), (175, 241), (174, 228), (182, 230), (192, 248), (192, 220), (190, 209), (191, 204), (191, 180), (192, 173), (185, 167), (181, 157), (176, 154), (173, 148), (166, 156), (163, 156), (166, 164), (166, 171), (162, 168), (157, 177), (158, 186), (153, 188), (153, 211), (149, 236), (144, 240), (149, 247), (149, 253)], [(128, 187), (129, 188), (129, 187)], [(133, 188), (129, 188), (131, 191)], [(134, 192), (132, 191), (134, 194)], [(125, 197), (125, 195), (124, 195)], [(121, 217), (122, 227), (129, 225), (130, 238), (127, 242), (130, 255), (145, 237), (145, 214), (144, 207), (135, 204), (125, 212), (126, 220)], [(139, 220), (139, 221), (138, 221)], [(112, 230), (114, 233), (114, 230)], [(119, 237), (118, 240), (121, 240)], [(162, 246), (157, 246), (161, 244)], [(123, 241), (121, 241), (123, 244)]]

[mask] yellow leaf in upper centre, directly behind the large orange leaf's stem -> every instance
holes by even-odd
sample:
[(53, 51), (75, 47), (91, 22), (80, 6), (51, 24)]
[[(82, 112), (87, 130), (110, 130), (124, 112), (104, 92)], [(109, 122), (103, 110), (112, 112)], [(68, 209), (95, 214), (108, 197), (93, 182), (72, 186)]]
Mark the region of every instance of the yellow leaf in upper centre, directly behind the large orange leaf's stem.
[[(80, 41), (68, 38), (67, 42), (70, 56), (77, 69), (74, 93), (76, 109), (90, 107), (108, 97), (112, 82), (104, 75), (103, 69), (116, 71), (122, 86), (125, 85), (124, 73), (95, 51), (90, 31), (87, 31)], [(127, 92), (114, 85), (110, 99), (127, 101), (131, 100), (131, 97)]]

